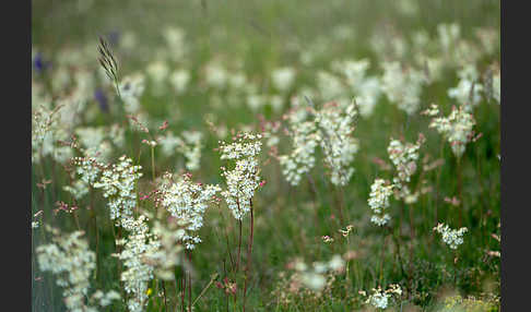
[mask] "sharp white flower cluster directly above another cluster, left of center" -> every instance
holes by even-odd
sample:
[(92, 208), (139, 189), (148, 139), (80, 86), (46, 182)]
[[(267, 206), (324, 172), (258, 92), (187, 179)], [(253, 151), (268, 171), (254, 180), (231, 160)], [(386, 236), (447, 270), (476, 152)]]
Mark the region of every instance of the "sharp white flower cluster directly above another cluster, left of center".
[(118, 224), (127, 230), (126, 219), (132, 218), (133, 208), (137, 205), (137, 193), (134, 188), (137, 181), (142, 177), (141, 166), (133, 166), (132, 159), (121, 156), (118, 164), (113, 164), (110, 168), (105, 168), (97, 182), (93, 184), (95, 189), (103, 189), (104, 197), (108, 199), (110, 218), (118, 219)]

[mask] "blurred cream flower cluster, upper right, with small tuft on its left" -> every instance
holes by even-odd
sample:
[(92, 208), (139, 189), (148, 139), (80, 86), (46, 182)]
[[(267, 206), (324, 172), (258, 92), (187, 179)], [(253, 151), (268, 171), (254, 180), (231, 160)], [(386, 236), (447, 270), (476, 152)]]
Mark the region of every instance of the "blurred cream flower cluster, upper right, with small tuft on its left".
[[(437, 106), (432, 105), (424, 113), (434, 117), (439, 113), (439, 110)], [(474, 117), (470, 112), (467, 112), (463, 106), (452, 106), (448, 117), (435, 117), (432, 119), (429, 128), (435, 128), (442, 134), (450, 142), (451, 151), (456, 157), (460, 158), (464, 153), (467, 143), (474, 135), (474, 131), (472, 130), (474, 124)]]

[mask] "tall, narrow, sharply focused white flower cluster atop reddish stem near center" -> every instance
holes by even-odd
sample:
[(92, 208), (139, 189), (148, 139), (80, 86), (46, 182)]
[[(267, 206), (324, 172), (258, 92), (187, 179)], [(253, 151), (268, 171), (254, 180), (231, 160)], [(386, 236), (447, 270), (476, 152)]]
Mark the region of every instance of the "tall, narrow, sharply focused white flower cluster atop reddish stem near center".
[(227, 189), (222, 192), (234, 217), (241, 220), (250, 211), (255, 191), (260, 185), (258, 155), (261, 152), (261, 134), (240, 133), (226, 144), (220, 142), (221, 159), (235, 160), (233, 170), (222, 168)]

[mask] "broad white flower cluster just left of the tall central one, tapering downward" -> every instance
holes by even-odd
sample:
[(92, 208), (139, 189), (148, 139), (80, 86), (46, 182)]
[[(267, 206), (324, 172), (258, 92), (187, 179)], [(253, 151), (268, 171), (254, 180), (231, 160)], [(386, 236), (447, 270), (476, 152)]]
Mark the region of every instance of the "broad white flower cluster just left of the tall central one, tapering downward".
[(172, 182), (172, 175), (166, 173), (161, 184), (161, 204), (175, 217), (186, 233), (182, 242), (187, 249), (193, 249), (201, 239), (193, 235), (203, 226), (203, 214), (209, 201), (220, 192), (217, 185), (193, 183), (191, 175), (185, 173), (177, 182)]

